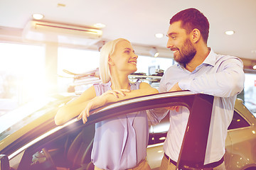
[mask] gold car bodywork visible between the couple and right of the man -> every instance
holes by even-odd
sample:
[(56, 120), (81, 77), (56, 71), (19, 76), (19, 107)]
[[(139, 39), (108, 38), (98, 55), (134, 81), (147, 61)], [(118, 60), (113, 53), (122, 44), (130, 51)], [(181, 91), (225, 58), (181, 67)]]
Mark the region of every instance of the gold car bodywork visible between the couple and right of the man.
[[(233, 119), (228, 127), (228, 135), (225, 140), (224, 160), (227, 170), (256, 169), (255, 123), (255, 115), (245, 107), (242, 99), (237, 98)], [(164, 156), (163, 145), (168, 129), (168, 115), (161, 120), (159, 125), (150, 128), (147, 160), (151, 167), (159, 167), (161, 164), (161, 159)]]

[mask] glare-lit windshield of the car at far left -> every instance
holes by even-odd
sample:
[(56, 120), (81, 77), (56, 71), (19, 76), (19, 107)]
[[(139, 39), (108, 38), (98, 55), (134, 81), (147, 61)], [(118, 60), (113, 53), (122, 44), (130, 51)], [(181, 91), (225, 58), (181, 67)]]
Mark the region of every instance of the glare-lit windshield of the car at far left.
[(70, 94), (48, 96), (26, 103), (14, 111), (2, 115), (0, 118), (0, 141), (73, 97), (74, 95)]

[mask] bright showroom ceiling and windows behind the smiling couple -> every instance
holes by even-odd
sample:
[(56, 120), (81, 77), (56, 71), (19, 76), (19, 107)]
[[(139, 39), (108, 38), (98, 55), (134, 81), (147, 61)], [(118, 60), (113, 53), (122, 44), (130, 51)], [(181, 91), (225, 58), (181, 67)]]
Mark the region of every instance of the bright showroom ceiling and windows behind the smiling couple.
[[(132, 4), (124, 9), (124, 3), (115, 2), (116, 6), (107, 9), (104, 1), (99, 2), (102, 5), (82, 1), (38, 1), (37, 4), (26, 0), (15, 1), (16, 5), (11, 1), (0, 2), (0, 115), (40, 96), (68, 92), (74, 79), (72, 74), (63, 70), (82, 74), (96, 69), (100, 47), (114, 38), (127, 38), (132, 42), (139, 55), (137, 73), (151, 76), (174, 64), (172, 52), (166, 49), (169, 18), (176, 11), (193, 6), (190, 1), (176, 3), (171, 11), (167, 7), (171, 1), (151, 2), (146, 6), (143, 1), (136, 2), (136, 10), (130, 15), (125, 12), (132, 9)], [(225, 1), (222, 6), (217, 1), (196, 2), (198, 4), (193, 7), (201, 9), (209, 18), (208, 45), (217, 53), (234, 55), (242, 60), (245, 89), (240, 98), (256, 113), (256, 35), (253, 31), (256, 23), (250, 19), (250, 16), (255, 16), (252, 9), (255, 2)], [(161, 5), (164, 3), (166, 7)], [(86, 10), (82, 6), (87, 6)], [(155, 6), (161, 6), (161, 10)], [(226, 6), (230, 6), (228, 12)], [(236, 6), (243, 6), (242, 14), (236, 12)], [(154, 9), (156, 12), (151, 13)], [(104, 13), (108, 13), (108, 17), (101, 17)], [(115, 13), (120, 13), (120, 16)], [(39, 17), (42, 18), (33, 18), (33, 14), (41, 14)], [(218, 20), (220, 16), (222, 20)], [(239, 21), (239, 26), (236, 21)], [(40, 22), (76, 30), (90, 28), (98, 32), (94, 35), (82, 35), (79, 31), (61, 33), (59, 28), (49, 30), (53, 31), (51, 35), (33, 35), (33, 24)], [(63, 38), (63, 35), (68, 36)], [(159, 52), (157, 57), (152, 54), (154, 50)]]

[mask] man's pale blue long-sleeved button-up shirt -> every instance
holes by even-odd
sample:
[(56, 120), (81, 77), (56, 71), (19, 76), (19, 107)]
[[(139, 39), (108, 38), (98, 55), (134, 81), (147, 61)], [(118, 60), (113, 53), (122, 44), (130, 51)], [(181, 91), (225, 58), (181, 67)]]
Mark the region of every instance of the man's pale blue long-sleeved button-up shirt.
[[(225, 138), (233, 118), (235, 98), (242, 91), (244, 80), (243, 64), (238, 57), (217, 55), (210, 50), (206, 60), (193, 72), (181, 64), (174, 64), (160, 81), (159, 92), (169, 91), (178, 83), (182, 90), (214, 96), (205, 164), (216, 162), (225, 154)], [(185, 106), (178, 112), (170, 111), (170, 128), (164, 142), (164, 152), (176, 162), (188, 115)]]

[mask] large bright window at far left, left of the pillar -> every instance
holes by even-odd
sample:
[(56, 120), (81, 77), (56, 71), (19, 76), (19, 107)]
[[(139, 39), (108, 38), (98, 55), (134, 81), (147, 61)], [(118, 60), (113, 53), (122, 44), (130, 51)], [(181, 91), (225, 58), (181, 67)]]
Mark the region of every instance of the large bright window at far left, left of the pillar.
[(44, 48), (0, 43), (0, 98), (19, 104), (45, 95)]

